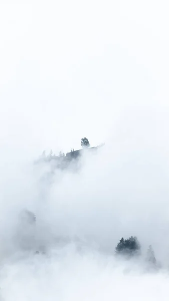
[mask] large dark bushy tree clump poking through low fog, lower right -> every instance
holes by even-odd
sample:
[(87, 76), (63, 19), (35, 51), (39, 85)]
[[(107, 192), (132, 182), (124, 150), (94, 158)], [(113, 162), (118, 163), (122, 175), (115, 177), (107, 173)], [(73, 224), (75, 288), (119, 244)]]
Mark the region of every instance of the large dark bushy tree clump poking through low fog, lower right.
[(137, 237), (129, 237), (125, 239), (122, 237), (115, 248), (116, 254), (126, 254), (126, 255), (133, 255), (138, 250), (140, 250), (140, 244), (137, 240)]

